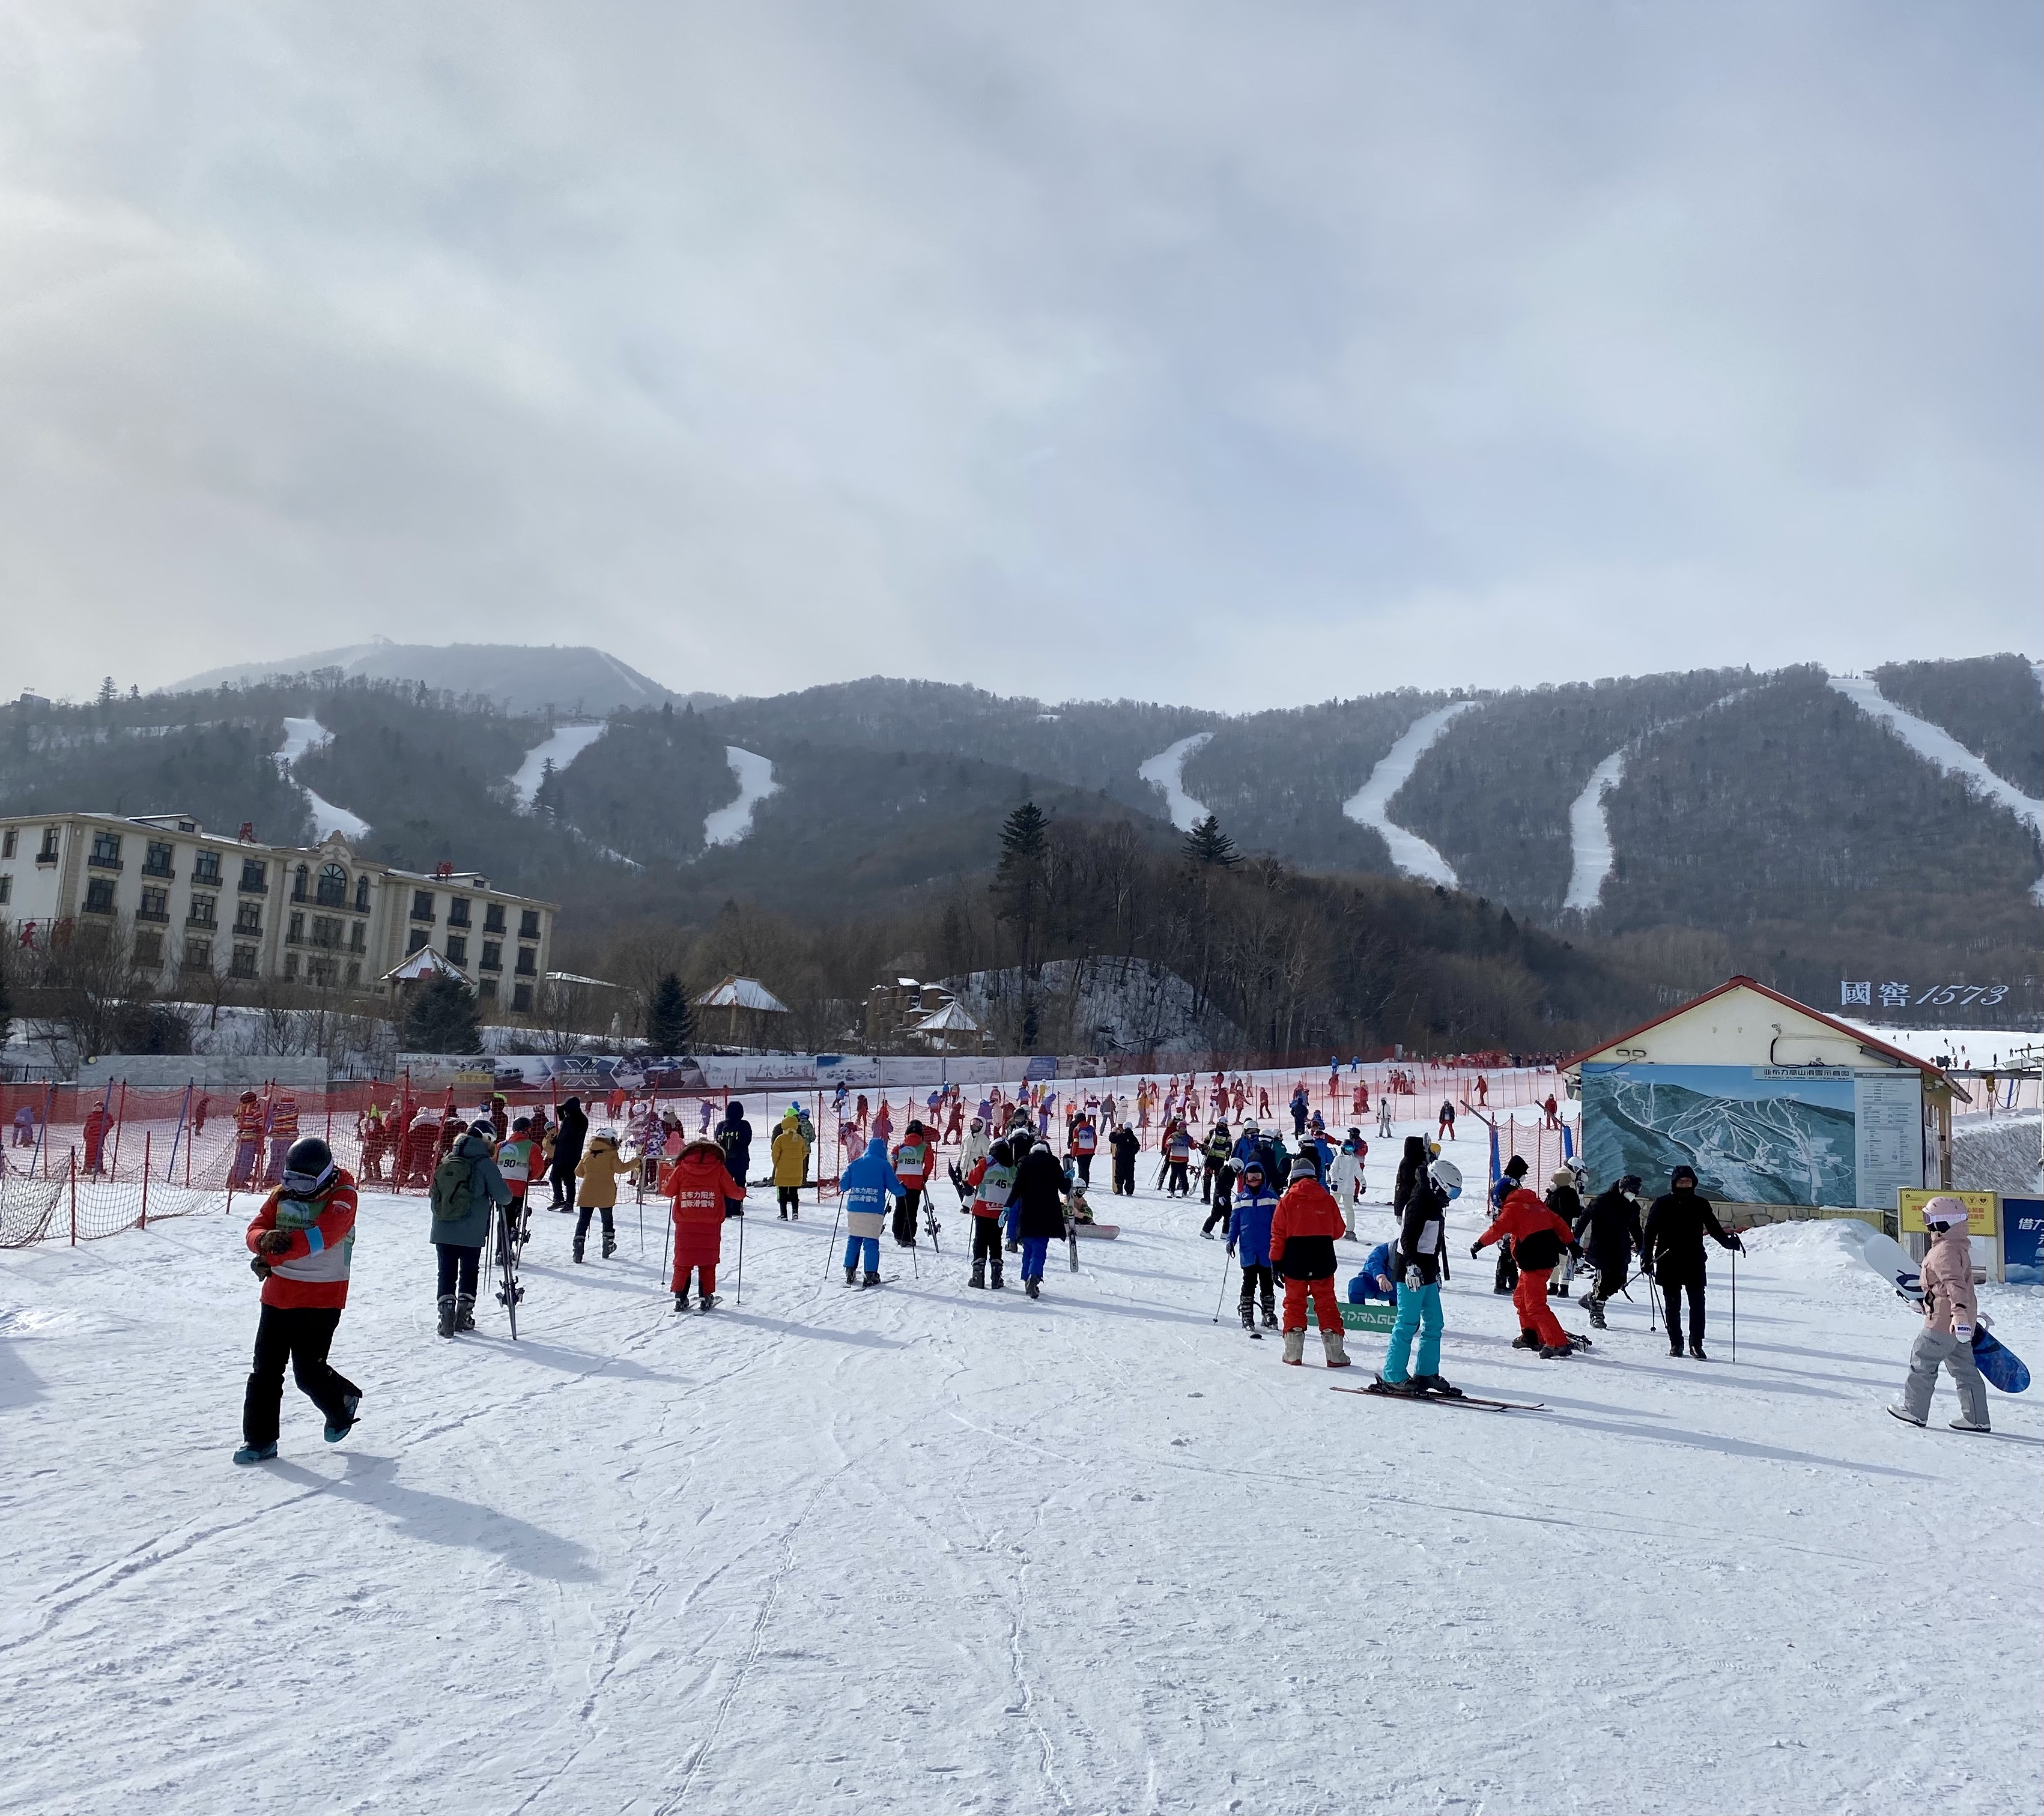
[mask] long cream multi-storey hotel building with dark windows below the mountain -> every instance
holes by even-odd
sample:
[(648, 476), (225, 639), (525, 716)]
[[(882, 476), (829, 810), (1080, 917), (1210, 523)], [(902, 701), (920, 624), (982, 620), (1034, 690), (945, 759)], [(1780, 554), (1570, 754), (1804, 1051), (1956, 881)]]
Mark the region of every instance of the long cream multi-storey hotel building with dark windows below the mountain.
[(0, 819), (0, 919), (16, 944), (121, 929), (137, 972), (176, 991), (194, 972), (376, 989), (431, 946), (493, 1013), (527, 1013), (554, 936), (550, 901), (442, 866), (397, 870), (329, 833), (260, 846), (178, 813), (41, 813)]

